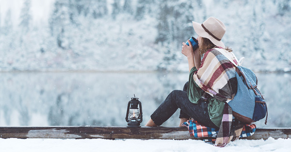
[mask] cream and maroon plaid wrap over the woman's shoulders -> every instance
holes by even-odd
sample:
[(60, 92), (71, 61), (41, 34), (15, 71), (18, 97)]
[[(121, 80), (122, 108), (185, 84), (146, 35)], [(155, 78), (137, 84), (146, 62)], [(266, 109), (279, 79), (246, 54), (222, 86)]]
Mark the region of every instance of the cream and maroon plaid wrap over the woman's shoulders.
[[(195, 83), (212, 97), (226, 101), (233, 99), (237, 91), (235, 66), (216, 47), (207, 51), (202, 59), (200, 68), (194, 73)], [(229, 53), (228, 51), (226, 51)], [(229, 53), (230, 54), (230, 53)], [(230, 56), (233, 56), (230, 54)], [(235, 63), (237, 61), (234, 59)]]

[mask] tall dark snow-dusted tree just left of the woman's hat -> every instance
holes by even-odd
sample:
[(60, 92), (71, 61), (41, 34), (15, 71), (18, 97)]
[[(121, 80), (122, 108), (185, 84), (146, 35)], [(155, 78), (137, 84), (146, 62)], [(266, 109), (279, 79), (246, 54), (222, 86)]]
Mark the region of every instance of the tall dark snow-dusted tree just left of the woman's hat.
[(178, 56), (180, 55), (178, 50), (181, 49), (182, 42), (186, 42), (194, 35), (192, 27), (193, 12), (193, 4), (187, 0), (164, 1), (161, 3), (156, 42), (162, 43), (164, 57), (162, 63), (158, 66), (159, 69), (175, 65), (180, 61), (181, 56)]

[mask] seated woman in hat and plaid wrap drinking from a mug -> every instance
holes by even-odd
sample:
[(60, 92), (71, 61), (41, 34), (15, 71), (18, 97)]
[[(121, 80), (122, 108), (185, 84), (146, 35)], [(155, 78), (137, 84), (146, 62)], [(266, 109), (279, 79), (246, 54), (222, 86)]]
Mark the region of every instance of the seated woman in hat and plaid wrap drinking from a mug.
[[(174, 90), (166, 97), (146, 126), (162, 125), (179, 108), (179, 126), (193, 118), (205, 126), (219, 128), (225, 101), (236, 94), (236, 68), (217, 51), (223, 49), (226, 53), (231, 52), (221, 41), (226, 32), (225, 25), (210, 17), (202, 24), (193, 22), (193, 27), (198, 35), (198, 48), (193, 51), (188, 40), (189, 46), (183, 42), (181, 51), (188, 59), (189, 81), (183, 90)], [(204, 57), (201, 61), (202, 55)]]

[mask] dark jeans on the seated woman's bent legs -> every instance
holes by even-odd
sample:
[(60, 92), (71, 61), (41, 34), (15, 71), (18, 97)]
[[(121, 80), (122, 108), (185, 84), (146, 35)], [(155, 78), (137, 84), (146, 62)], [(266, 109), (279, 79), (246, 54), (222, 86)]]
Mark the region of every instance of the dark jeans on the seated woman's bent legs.
[(192, 117), (198, 123), (208, 127), (219, 128), (213, 124), (208, 114), (208, 101), (200, 99), (198, 104), (192, 103), (187, 96), (188, 82), (182, 90), (172, 91), (156, 111), (150, 116), (157, 125), (162, 125), (177, 110), (180, 109), (179, 118)]

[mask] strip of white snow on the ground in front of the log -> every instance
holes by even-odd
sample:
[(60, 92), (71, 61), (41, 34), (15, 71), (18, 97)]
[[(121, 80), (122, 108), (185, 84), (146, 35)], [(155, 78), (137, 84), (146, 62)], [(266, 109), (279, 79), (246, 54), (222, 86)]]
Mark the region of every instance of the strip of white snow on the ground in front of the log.
[(291, 138), (241, 139), (224, 148), (200, 140), (2, 139), (0, 152), (291, 152)]

